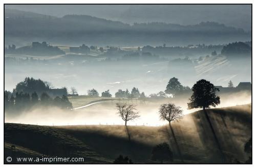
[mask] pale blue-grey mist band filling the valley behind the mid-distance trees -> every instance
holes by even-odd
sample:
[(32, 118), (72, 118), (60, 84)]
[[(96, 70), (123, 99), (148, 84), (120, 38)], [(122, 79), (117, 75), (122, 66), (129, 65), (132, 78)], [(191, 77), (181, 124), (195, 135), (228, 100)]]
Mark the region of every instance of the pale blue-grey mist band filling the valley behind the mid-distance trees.
[[(22, 55), (20, 57), (24, 58)], [(203, 61), (195, 60), (195, 63), (189, 64), (185, 62), (169, 64), (169, 61), (161, 60), (144, 63), (98, 62), (88, 57), (77, 59), (72, 56), (53, 57), (39, 63), (36, 61), (20, 63), (8, 62), (6, 58), (5, 89), (12, 91), (19, 81), (30, 76), (50, 81), (55, 88), (75, 87), (80, 95), (86, 94), (87, 90), (92, 88), (99, 93), (110, 90), (110, 93), (115, 95), (118, 89), (131, 91), (136, 87), (148, 96), (164, 91), (168, 80), (172, 77), (178, 78), (182, 85), (190, 88), (202, 78), (214, 83), (215, 86), (223, 87), (227, 87), (228, 81), (232, 80), (236, 87), (239, 82), (251, 81), (250, 64), (250, 59), (229, 61), (215, 57)]]

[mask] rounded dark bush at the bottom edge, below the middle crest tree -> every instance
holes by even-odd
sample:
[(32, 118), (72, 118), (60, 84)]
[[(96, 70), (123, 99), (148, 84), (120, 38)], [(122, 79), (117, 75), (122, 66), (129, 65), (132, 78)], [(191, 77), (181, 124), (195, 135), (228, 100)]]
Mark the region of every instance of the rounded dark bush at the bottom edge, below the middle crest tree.
[(153, 148), (151, 159), (159, 160), (161, 163), (163, 161), (173, 161), (173, 152), (167, 143), (162, 143)]

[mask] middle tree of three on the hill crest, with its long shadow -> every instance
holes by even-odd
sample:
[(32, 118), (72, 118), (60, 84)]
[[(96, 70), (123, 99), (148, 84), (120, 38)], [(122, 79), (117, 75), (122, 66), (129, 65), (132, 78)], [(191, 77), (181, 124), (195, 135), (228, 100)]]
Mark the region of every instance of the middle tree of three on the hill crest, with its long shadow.
[(181, 109), (181, 107), (176, 106), (173, 103), (161, 104), (159, 108), (159, 115), (160, 115), (160, 119), (167, 120), (169, 122), (169, 127), (170, 127), (170, 130), (172, 131), (177, 150), (179, 152), (181, 161), (183, 161), (180, 148), (174, 134), (174, 130), (170, 125), (170, 122), (182, 119), (184, 117), (183, 110)]

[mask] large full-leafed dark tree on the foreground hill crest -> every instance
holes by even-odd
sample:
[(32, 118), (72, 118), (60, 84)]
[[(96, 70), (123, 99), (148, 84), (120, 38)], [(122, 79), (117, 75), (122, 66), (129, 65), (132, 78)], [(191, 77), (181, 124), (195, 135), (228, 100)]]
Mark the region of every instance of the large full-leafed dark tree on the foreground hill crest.
[(216, 92), (220, 90), (205, 79), (197, 81), (192, 87), (192, 91), (190, 102), (187, 103), (188, 109), (199, 107), (205, 109), (220, 104), (220, 97), (216, 96)]

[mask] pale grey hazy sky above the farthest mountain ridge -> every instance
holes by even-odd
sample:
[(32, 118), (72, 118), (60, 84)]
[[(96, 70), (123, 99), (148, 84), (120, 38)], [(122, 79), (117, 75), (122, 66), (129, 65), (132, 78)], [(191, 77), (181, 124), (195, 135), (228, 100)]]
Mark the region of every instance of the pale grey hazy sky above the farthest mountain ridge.
[(5, 8), (57, 17), (84, 14), (125, 23), (159, 21), (187, 25), (216, 21), (251, 29), (250, 5), (6, 5)]

